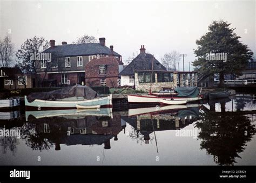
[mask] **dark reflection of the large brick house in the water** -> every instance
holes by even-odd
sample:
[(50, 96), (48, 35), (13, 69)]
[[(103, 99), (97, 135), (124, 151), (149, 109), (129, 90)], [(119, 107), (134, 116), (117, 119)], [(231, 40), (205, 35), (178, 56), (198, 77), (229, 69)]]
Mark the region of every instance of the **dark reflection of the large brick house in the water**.
[[(98, 112), (95, 114), (97, 116), (70, 112), (54, 117), (43, 117), (44, 115), (42, 115), (36, 118), (30, 114), (26, 114), (26, 116), (29, 123), (35, 124), (37, 137), (48, 139), (49, 142), (55, 144), (56, 151), (60, 150), (60, 144), (104, 144), (104, 149), (111, 149), (110, 140), (112, 138), (118, 140), (117, 135), (124, 128), (120, 114), (112, 113), (112, 110), (109, 113), (101, 111), (100, 114)], [(50, 115), (48, 114), (48, 116)]]

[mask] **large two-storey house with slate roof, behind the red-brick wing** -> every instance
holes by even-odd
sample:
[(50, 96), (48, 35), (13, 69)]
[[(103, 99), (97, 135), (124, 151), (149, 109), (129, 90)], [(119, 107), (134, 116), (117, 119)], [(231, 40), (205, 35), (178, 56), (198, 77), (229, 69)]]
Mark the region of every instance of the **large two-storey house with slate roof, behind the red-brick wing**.
[[(99, 38), (99, 43), (55, 45), (50, 40), (50, 47), (43, 53), (51, 53), (51, 64), (46, 60), (38, 61), (37, 74), (43, 86), (74, 85), (85, 81), (85, 65), (96, 57), (113, 55), (122, 62), (122, 56), (106, 46), (105, 38)], [(120, 65), (120, 70), (122, 70)]]

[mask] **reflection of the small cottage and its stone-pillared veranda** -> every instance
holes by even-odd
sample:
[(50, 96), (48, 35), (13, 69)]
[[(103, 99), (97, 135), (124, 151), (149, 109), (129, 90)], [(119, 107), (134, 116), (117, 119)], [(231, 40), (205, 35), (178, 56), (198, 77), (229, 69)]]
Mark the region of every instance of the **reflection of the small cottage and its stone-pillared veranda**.
[[(145, 108), (141, 114), (123, 116), (122, 119), (129, 123), (134, 131), (131, 136), (139, 138), (143, 136), (146, 144), (149, 144), (150, 134), (154, 131), (180, 130), (199, 119), (199, 107), (171, 110), (153, 110)], [(137, 110), (138, 111), (138, 110)], [(151, 111), (145, 113), (146, 111)], [(129, 111), (130, 112), (130, 111)], [(133, 112), (130, 112), (133, 114)]]

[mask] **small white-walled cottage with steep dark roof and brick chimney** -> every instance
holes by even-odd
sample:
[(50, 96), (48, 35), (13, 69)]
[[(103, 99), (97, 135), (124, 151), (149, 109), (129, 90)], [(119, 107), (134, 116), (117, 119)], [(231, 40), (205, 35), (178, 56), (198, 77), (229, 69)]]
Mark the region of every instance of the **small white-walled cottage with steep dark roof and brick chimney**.
[(166, 71), (166, 68), (161, 63), (153, 58), (152, 54), (146, 53), (146, 49), (143, 46), (140, 47), (140, 54), (134, 58), (125, 69), (119, 73), (121, 78), (121, 86), (134, 86), (134, 71), (151, 71), (153, 59), (153, 71)]

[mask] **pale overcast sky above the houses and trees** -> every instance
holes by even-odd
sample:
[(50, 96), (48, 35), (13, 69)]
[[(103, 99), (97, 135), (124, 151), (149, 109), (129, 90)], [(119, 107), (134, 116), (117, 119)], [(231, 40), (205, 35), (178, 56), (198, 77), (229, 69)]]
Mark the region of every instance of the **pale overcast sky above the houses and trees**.
[[(3, 1), (0, 0), (0, 38), (10, 34), (15, 51), (33, 36), (68, 44), (84, 34), (106, 38), (106, 46), (123, 61), (139, 53), (140, 45), (159, 61), (172, 50), (188, 62), (213, 20), (236, 28), (242, 43), (256, 53), (254, 1)], [(180, 59), (180, 70), (183, 68)], [(191, 71), (193, 67), (191, 66)]]

